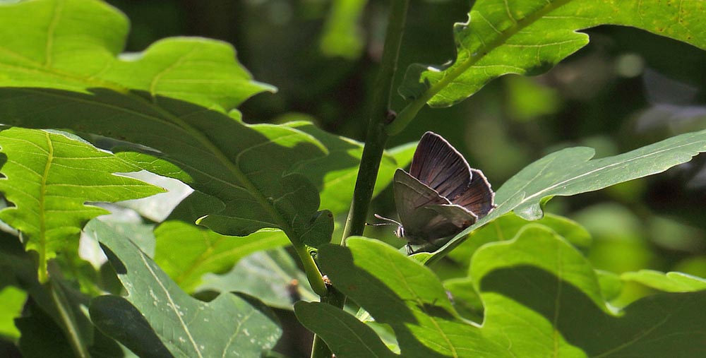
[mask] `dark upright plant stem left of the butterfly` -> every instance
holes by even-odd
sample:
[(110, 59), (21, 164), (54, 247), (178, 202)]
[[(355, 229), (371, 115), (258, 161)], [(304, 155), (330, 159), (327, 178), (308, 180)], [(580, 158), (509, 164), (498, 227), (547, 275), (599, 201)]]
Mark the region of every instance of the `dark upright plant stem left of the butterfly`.
[[(353, 201), (348, 212), (345, 229), (343, 229), (342, 245), (345, 245), (348, 237), (361, 235), (363, 234), (363, 229), (365, 229), (368, 207), (373, 197), (373, 188), (378, 177), (378, 169), (383, 157), (383, 150), (385, 150), (385, 143), (388, 140), (385, 125), (389, 121), (390, 98), (393, 94), (397, 59), (400, 56), (400, 44), (402, 43), (402, 34), (407, 20), (408, 7), (409, 0), (390, 0), (390, 15), (387, 32), (385, 33), (383, 58), (380, 72), (375, 82), (375, 93), (373, 94), (365, 147), (360, 160)], [(333, 282), (333, 285), (334, 287), (332, 287), (328, 296), (322, 297), (321, 302), (342, 308), (346, 302), (346, 297), (338, 290), (335, 290), (335, 282)], [(321, 340), (321, 337), (316, 335), (311, 349), (311, 358), (330, 358), (331, 356), (331, 350)]]

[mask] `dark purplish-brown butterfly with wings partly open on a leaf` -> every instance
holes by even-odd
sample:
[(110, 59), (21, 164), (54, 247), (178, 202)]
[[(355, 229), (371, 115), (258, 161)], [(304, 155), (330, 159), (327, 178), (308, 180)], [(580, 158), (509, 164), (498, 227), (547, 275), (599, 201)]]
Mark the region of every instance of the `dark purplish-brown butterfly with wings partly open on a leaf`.
[(421, 137), (409, 173), (397, 169), (393, 186), (400, 222), (375, 216), (398, 225), (395, 234), (407, 239), (409, 253), (412, 245), (438, 249), (495, 207), (488, 179), (433, 132)]

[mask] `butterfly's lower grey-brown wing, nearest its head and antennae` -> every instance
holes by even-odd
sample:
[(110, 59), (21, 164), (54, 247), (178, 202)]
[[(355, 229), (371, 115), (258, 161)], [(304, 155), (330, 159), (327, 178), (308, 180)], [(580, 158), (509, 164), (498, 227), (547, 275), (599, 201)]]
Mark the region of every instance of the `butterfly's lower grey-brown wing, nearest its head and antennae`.
[(395, 172), (395, 205), (410, 244), (450, 237), (472, 225), (477, 216), (450, 203), (402, 169)]

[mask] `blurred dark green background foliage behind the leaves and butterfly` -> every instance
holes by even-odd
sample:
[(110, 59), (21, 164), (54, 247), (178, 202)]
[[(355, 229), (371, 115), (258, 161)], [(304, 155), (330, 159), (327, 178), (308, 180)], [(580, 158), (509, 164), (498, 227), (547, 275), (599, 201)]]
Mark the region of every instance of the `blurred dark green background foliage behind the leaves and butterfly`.
[[(246, 121), (307, 118), (325, 131), (364, 141), (387, 1), (108, 2), (131, 19), (128, 52), (177, 35), (234, 44), (253, 76), (279, 89), (247, 101), (241, 107)], [(409, 64), (443, 64), (453, 58), (453, 23), (467, 20), (471, 5), (412, 1), (397, 80)], [(549, 73), (505, 76), (460, 105), (426, 108), (388, 145), (435, 131), (497, 189), (525, 165), (561, 148), (587, 145), (603, 157), (706, 127), (705, 52), (634, 28), (603, 26), (586, 32), (590, 44)], [(402, 105), (402, 98), (395, 97), (393, 109)], [(702, 155), (653, 177), (554, 198), (546, 209), (586, 227), (594, 239), (587, 256), (598, 269), (617, 274), (679, 270), (706, 277), (705, 162)], [(395, 217), (394, 211), (392, 192), (386, 190), (370, 213)], [(366, 234), (401, 246), (403, 241), (391, 232), (390, 227), (369, 228)], [(435, 269), (442, 278), (465, 275), (465, 265), (450, 259)], [(648, 292), (631, 283), (615, 303)], [(307, 347), (301, 340), (289, 341)]]

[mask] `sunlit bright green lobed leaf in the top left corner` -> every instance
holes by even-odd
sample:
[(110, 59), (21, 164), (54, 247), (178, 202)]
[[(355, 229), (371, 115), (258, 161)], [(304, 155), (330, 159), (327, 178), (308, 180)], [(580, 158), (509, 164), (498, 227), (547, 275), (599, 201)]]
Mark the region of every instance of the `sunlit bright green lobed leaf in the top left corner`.
[[(31, 16), (29, 16), (31, 14)], [(270, 85), (233, 61), (229, 44), (174, 37), (144, 52), (116, 56), (128, 19), (102, 1), (41, 0), (0, 6), (0, 83), (86, 93), (144, 91), (149, 102), (177, 98), (221, 112)], [(21, 35), (20, 35), (21, 34)]]

